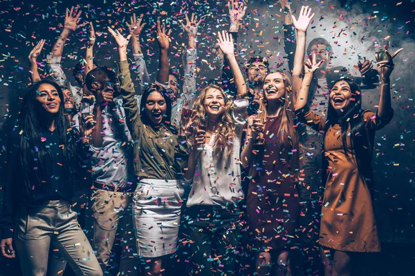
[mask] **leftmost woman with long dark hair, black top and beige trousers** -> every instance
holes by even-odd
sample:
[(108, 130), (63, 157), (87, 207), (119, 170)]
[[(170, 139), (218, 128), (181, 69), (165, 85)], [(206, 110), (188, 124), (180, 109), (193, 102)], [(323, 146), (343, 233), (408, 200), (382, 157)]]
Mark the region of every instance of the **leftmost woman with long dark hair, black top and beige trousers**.
[[(92, 121), (92, 117), (86, 119)], [(92, 130), (82, 132), (88, 136)], [(8, 137), (8, 170), (0, 217), (2, 253), (15, 257), (15, 233), (24, 275), (46, 275), (50, 246), (66, 256), (73, 270), (102, 275), (77, 222), (77, 213), (71, 210), (74, 193), (88, 187), (80, 185), (84, 184), (88, 162), (80, 141), (79, 132), (71, 128), (64, 115), (62, 89), (48, 80), (30, 86), (18, 126)]]

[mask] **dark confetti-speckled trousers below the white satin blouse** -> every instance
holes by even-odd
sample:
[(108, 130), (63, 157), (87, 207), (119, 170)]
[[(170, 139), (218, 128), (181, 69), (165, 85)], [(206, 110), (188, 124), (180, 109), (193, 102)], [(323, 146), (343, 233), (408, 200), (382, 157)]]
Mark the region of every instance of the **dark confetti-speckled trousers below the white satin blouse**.
[(191, 275), (235, 274), (241, 227), (239, 208), (192, 206), (185, 215), (193, 253)]

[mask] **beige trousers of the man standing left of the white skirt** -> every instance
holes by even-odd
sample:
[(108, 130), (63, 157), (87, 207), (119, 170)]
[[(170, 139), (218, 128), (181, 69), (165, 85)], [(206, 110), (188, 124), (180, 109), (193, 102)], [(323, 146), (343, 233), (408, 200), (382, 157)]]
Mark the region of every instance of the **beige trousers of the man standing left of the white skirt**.
[(132, 197), (133, 193), (101, 189), (94, 189), (91, 195), (94, 218), (93, 246), (104, 272), (111, 257), (111, 249), (118, 239), (122, 248), (120, 275), (138, 275), (135, 259), (136, 237), (131, 213)]

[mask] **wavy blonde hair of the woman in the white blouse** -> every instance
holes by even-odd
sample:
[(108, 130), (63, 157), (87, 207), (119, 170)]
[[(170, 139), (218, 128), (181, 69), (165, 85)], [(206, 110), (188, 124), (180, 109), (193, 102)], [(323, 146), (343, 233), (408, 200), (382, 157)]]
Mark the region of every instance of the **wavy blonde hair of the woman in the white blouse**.
[[(193, 104), (193, 110), (196, 111), (196, 115), (192, 120), (194, 122), (193, 126), (208, 126), (208, 115), (206, 114), (204, 102), (206, 99), (206, 93), (210, 88), (221, 91), (223, 99), (225, 100), (225, 112), (219, 120), (219, 127), (215, 130), (216, 137), (214, 139), (214, 149), (219, 150), (219, 152), (223, 152), (226, 146), (232, 146), (232, 139), (235, 133), (235, 125), (234, 119), (232, 117), (232, 97), (227, 95), (220, 86), (216, 86), (216, 84), (210, 84), (209, 86), (205, 86), (201, 89), (199, 97), (197, 97), (196, 101)], [(194, 128), (191, 132), (192, 137), (195, 137), (196, 131), (194, 131)]]

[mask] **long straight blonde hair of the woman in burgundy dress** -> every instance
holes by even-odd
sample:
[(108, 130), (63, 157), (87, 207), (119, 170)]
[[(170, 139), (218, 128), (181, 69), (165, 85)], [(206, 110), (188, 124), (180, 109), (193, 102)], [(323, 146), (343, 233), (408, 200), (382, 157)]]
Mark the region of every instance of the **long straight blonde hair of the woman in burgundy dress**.
[[(284, 101), (282, 104), (280, 114), (282, 113), (282, 120), (281, 124), (277, 130), (277, 138), (282, 141), (285, 137), (291, 140), (291, 146), (295, 150), (293, 155), (291, 156), (291, 170), (293, 175), (299, 175), (299, 141), (298, 141), (298, 134), (297, 130), (295, 130), (294, 125), (294, 101), (293, 101), (293, 92), (291, 87), (290, 78), (281, 71), (275, 71), (282, 75), (282, 79), (284, 81), (285, 92), (284, 96), (281, 97), (281, 101)], [(270, 74), (275, 72), (269, 72), (266, 77)], [(266, 121), (266, 117), (268, 115), (267, 109), (267, 100), (266, 100), (266, 92), (264, 92), (264, 98), (262, 99), (262, 103), (259, 106), (259, 112), (257, 114), (257, 118), (260, 119), (261, 123), (264, 124)], [(250, 172), (249, 175), (251, 177), (257, 176), (257, 166), (262, 165), (262, 161), (264, 160), (264, 145), (256, 145), (255, 150), (257, 150), (257, 155), (250, 161)], [(278, 150), (279, 152), (279, 150)], [(279, 158), (277, 161), (281, 161)], [(257, 164), (257, 166), (252, 166), (253, 164)]]

